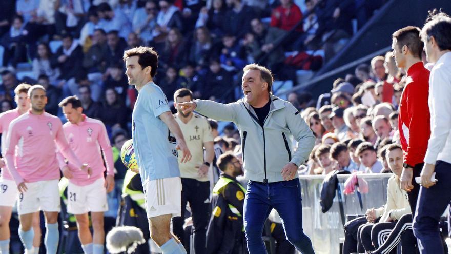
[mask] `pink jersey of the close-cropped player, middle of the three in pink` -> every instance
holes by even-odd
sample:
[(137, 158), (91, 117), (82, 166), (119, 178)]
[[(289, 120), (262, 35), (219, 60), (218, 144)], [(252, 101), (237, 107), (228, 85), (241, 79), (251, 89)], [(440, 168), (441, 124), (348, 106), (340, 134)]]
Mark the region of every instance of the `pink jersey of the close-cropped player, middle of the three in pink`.
[[(14, 161), (16, 145), (17, 159)], [(67, 143), (59, 118), (47, 112), (36, 115), (28, 111), (14, 119), (9, 125), (4, 151), (14, 181), (19, 184), (59, 179), (61, 162), (56, 158), (56, 145), (66, 158), (81, 168), (81, 162)]]

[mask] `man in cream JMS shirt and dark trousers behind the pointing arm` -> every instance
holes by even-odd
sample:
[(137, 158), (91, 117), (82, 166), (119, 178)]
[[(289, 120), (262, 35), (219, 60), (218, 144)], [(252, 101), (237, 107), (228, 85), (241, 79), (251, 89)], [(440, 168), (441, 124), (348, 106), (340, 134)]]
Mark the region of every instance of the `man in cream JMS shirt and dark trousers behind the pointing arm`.
[[(193, 93), (181, 88), (174, 93), (174, 107), (177, 113), (175, 121), (180, 126), (183, 136), (187, 138), (187, 145), (191, 151), (191, 161), (180, 163), (181, 177), (181, 216), (172, 219), (174, 235), (183, 244), (185, 223), (185, 208), (190, 203), (193, 218), (193, 242), (196, 253), (205, 252), (205, 234), (208, 224), (208, 208), (210, 206), (210, 165), (215, 157), (213, 136), (207, 119), (193, 112), (183, 113), (178, 103), (193, 100)], [(205, 154), (204, 154), (205, 152)]]

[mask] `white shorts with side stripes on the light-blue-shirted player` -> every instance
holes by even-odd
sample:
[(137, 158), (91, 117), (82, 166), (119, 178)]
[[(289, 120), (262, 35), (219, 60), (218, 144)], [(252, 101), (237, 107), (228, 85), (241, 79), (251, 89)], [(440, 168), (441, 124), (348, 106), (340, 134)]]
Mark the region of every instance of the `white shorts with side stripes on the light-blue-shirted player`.
[(165, 214), (172, 214), (172, 217), (180, 216), (180, 177), (151, 180), (142, 187), (144, 188), (148, 218)]

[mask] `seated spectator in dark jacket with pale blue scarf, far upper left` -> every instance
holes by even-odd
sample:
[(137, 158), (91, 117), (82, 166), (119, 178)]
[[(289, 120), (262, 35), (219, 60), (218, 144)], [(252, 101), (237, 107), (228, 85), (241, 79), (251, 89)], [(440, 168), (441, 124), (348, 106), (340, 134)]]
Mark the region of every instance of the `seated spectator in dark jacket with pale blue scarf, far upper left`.
[(29, 32), (25, 27), (24, 18), (15, 16), (8, 33), (1, 38), (0, 45), (5, 48), (3, 64), (17, 67), (17, 63), (27, 62), (27, 47)]

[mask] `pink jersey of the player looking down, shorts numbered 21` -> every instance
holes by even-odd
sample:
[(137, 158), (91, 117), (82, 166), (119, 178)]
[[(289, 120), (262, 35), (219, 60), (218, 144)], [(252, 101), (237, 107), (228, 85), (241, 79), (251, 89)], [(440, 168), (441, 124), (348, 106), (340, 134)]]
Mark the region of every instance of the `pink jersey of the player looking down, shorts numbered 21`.
[(104, 123), (83, 115), (83, 121), (78, 124), (67, 122), (63, 125), (63, 129), (66, 139), (77, 157), (88, 163), (92, 169), (91, 178), (87, 179), (86, 172), (74, 168), (75, 166), (69, 161), (73, 175), (69, 179), (70, 182), (84, 186), (104, 177), (105, 166), (100, 148), (104, 153), (107, 174), (114, 175), (113, 152)]

